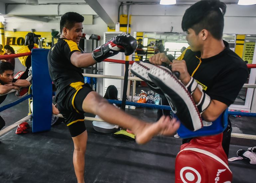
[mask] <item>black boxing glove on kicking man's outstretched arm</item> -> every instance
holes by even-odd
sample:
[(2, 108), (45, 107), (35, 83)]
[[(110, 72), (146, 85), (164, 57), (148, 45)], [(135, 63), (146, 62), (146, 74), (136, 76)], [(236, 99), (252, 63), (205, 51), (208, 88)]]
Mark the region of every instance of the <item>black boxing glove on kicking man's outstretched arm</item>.
[(114, 56), (119, 52), (124, 52), (126, 56), (131, 55), (137, 48), (136, 39), (127, 34), (120, 34), (97, 47), (92, 51), (92, 58), (96, 62), (101, 62), (104, 59)]

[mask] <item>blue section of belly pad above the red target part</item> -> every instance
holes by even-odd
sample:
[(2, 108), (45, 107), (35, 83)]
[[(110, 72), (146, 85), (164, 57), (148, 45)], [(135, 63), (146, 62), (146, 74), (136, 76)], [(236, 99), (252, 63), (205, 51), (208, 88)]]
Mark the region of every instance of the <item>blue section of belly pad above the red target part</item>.
[[(175, 114), (173, 117), (177, 118)], [(228, 109), (226, 109), (215, 121), (212, 122), (210, 126), (204, 126), (199, 130), (191, 131), (187, 129), (182, 123), (177, 131), (180, 138), (192, 138), (192, 137), (200, 137), (200, 136), (207, 136), (207, 135), (217, 135), (222, 133), (228, 125)]]

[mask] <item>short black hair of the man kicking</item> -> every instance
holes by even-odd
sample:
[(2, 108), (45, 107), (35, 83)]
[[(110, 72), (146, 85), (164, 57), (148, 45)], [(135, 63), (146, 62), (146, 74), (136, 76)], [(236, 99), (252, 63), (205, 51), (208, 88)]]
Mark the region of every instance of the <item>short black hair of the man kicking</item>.
[(84, 17), (75, 12), (67, 12), (61, 17), (60, 29), (61, 33), (63, 28), (67, 28), (68, 30), (74, 27), (75, 23), (83, 22)]

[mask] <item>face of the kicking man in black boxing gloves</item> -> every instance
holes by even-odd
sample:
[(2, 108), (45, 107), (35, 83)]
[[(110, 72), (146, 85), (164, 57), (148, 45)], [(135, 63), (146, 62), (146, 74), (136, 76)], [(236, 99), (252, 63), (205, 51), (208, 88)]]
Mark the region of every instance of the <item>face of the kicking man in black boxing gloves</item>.
[(79, 43), (81, 37), (82, 37), (82, 30), (83, 30), (83, 25), (81, 22), (77, 22), (74, 24), (74, 27), (70, 30), (66, 29), (66, 38), (68, 40), (72, 40), (76, 42), (76, 44)]

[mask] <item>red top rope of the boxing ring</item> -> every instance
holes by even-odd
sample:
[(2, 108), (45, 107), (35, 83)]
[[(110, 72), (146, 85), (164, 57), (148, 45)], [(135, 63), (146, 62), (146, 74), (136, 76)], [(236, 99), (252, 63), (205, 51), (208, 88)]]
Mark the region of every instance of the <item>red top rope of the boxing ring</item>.
[[(18, 58), (23, 56), (31, 55), (31, 52), (27, 53), (18, 53), (18, 54), (10, 54), (10, 55), (0, 55), (0, 60), (10, 59), (10, 58)], [(105, 59), (104, 62), (113, 62), (113, 63), (119, 63), (119, 64), (125, 64), (125, 60), (116, 60), (116, 59)], [(129, 65), (132, 65), (135, 61), (127, 61), (129, 62)], [(256, 64), (247, 64), (248, 69), (256, 68)]]

